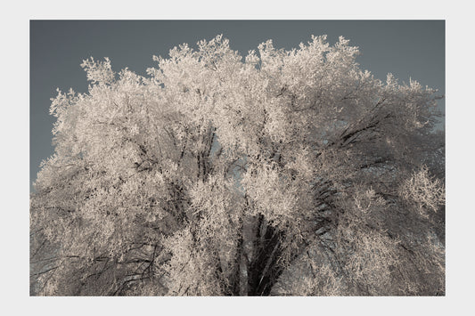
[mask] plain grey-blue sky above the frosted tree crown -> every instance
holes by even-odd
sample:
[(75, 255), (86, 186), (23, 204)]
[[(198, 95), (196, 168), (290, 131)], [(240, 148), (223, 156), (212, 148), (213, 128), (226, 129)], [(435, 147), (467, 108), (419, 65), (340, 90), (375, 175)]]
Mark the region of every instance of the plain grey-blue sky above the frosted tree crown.
[[(111, 58), (112, 69), (145, 75), (155, 67), (152, 55), (168, 56), (176, 45), (196, 47), (201, 39), (223, 34), (245, 56), (267, 39), (277, 48), (307, 43), (311, 35), (339, 36), (359, 46), (362, 69), (382, 80), (391, 72), (445, 94), (444, 20), (30, 20), (29, 177), (30, 190), (39, 165), (53, 154), (54, 117), (50, 98), (56, 88), (86, 93), (86, 73), (79, 66), (93, 56)], [(439, 101), (444, 110), (445, 100)], [(441, 125), (442, 126), (442, 125)]]

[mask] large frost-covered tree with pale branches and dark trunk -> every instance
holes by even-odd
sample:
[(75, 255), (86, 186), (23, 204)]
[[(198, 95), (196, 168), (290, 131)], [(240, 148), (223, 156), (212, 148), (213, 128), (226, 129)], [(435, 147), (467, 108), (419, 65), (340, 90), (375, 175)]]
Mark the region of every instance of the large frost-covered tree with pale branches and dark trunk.
[(242, 60), (217, 36), (148, 77), (84, 61), (30, 198), (35, 293), (444, 295), (438, 96), (357, 54), (312, 36)]

